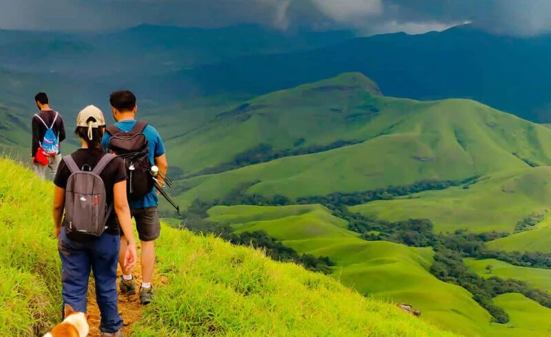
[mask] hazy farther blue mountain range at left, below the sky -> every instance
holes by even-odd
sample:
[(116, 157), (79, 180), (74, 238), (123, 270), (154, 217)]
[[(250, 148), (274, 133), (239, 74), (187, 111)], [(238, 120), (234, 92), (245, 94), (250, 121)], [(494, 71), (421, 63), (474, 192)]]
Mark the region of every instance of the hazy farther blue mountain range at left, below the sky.
[(139, 25), (98, 33), (0, 30), (1, 67), (43, 74), (134, 78), (252, 54), (295, 52), (353, 38), (351, 31), (280, 32), (258, 25), (220, 29)]

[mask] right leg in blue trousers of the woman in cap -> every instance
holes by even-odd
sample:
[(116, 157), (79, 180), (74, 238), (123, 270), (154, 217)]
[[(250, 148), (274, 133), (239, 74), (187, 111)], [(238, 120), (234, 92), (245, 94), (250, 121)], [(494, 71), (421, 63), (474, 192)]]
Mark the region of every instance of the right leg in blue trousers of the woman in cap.
[(123, 327), (118, 314), (116, 265), (121, 240), (118, 235), (104, 233), (94, 244), (90, 259), (96, 281), (96, 301), (101, 313), (100, 330), (112, 334)]

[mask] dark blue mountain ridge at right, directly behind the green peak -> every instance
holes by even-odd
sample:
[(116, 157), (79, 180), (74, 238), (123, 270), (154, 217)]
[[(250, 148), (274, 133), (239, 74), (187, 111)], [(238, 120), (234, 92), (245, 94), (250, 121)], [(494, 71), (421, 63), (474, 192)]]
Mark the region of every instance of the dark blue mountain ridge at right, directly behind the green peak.
[(421, 35), (357, 38), (290, 54), (245, 56), (183, 72), (211, 94), (270, 91), (337, 76), (368, 74), (390, 96), (471, 98), (537, 122), (551, 121), (551, 35), (495, 36), (470, 25)]

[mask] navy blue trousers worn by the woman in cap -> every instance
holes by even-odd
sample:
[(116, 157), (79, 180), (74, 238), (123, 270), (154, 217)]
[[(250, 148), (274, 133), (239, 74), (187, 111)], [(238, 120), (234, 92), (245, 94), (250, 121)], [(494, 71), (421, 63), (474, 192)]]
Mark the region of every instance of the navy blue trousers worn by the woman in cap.
[(101, 332), (112, 334), (123, 327), (118, 314), (116, 266), (121, 241), (118, 235), (104, 233), (101, 237), (83, 241), (67, 237), (65, 228), (59, 235), (58, 250), (61, 257), (63, 303), (77, 312), (86, 312), (86, 295), (90, 270), (96, 281), (96, 300), (101, 312)]

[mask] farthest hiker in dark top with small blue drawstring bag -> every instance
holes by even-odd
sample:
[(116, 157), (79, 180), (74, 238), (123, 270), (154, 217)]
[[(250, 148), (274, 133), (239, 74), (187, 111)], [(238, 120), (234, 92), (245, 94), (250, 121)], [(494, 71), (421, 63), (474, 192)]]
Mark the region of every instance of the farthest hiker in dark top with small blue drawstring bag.
[(53, 179), (61, 162), (59, 145), (65, 140), (65, 125), (59, 112), (50, 108), (48, 95), (39, 92), (34, 101), (40, 111), (32, 116), (31, 163), (41, 180), (46, 179), (46, 166)]

